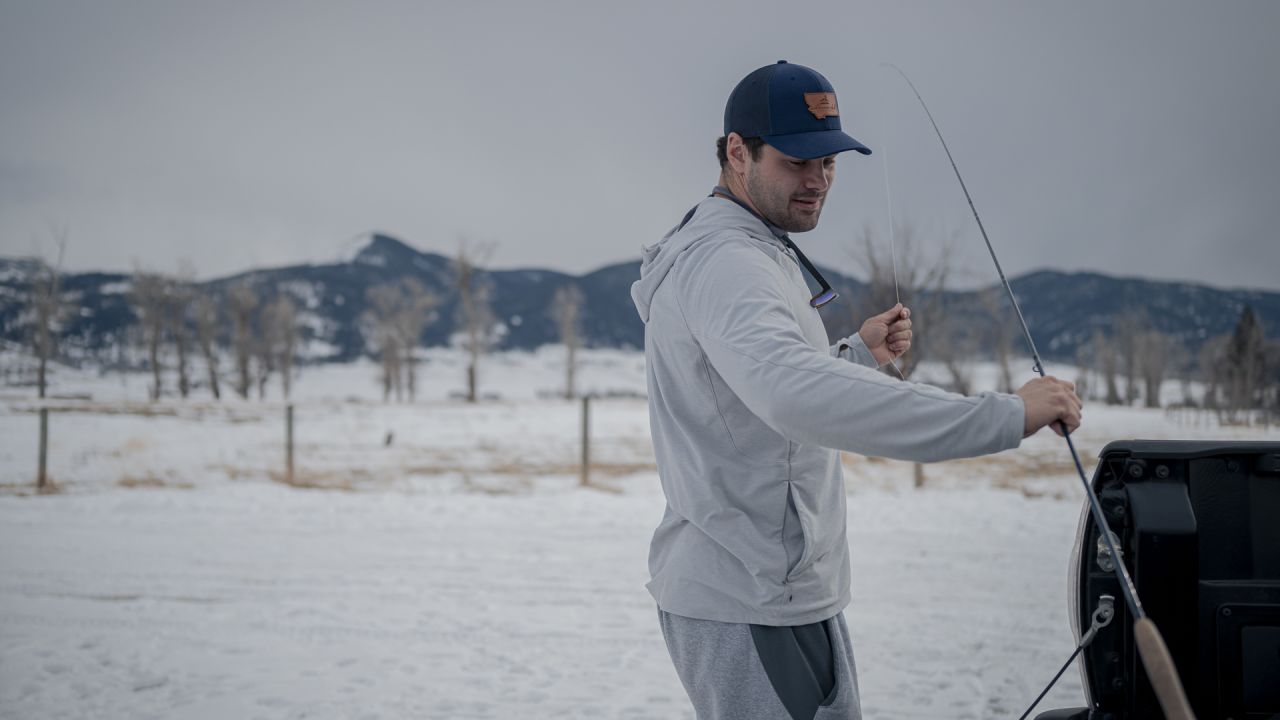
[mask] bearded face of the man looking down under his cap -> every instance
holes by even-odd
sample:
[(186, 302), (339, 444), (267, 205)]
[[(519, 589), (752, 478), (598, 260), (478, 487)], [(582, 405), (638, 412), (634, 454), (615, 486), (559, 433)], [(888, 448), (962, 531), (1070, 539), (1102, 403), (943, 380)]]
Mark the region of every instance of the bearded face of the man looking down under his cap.
[(750, 152), (745, 159), (746, 191), (764, 219), (787, 232), (818, 227), (827, 191), (836, 179), (835, 155), (800, 160), (765, 143), (759, 160), (751, 160)]

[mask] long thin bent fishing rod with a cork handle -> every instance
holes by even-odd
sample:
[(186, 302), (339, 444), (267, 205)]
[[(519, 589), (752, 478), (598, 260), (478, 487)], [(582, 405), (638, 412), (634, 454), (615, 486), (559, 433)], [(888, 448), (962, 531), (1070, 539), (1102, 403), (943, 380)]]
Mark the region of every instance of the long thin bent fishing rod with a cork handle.
[[(1005, 270), (1000, 266), (1000, 259), (996, 258), (996, 249), (992, 247), (991, 238), (987, 237), (987, 228), (983, 227), (982, 218), (978, 217), (978, 209), (973, 204), (973, 196), (969, 195), (969, 187), (965, 186), (964, 178), (960, 177), (960, 168), (956, 167), (955, 158), (951, 156), (951, 149), (947, 147), (947, 141), (942, 137), (942, 131), (938, 129), (938, 123), (933, 119), (933, 113), (929, 111), (929, 106), (924, 102), (924, 97), (920, 96), (920, 91), (915, 88), (915, 83), (911, 82), (911, 78), (906, 77), (902, 68), (899, 68), (892, 63), (881, 63), (881, 67), (892, 68), (897, 70), (897, 74), (902, 76), (902, 79), (905, 79), (906, 85), (910, 86), (911, 92), (915, 94), (915, 99), (920, 101), (920, 106), (924, 108), (924, 114), (929, 117), (933, 132), (937, 133), (938, 142), (942, 143), (942, 150), (947, 154), (947, 160), (951, 161), (951, 169), (955, 172), (956, 179), (960, 181), (960, 190), (964, 191), (964, 197), (969, 201), (969, 210), (973, 211), (973, 219), (978, 222), (978, 231), (982, 232), (982, 240), (987, 243), (987, 251), (991, 254), (991, 261), (996, 264), (996, 273), (1000, 275), (1000, 282), (1005, 286), (1005, 292), (1009, 293), (1009, 301), (1014, 305), (1014, 313), (1018, 314), (1018, 322), (1023, 328), (1023, 337), (1027, 338), (1027, 346), (1032, 351), (1034, 370), (1043, 378), (1044, 364), (1041, 361), (1039, 352), (1036, 350), (1036, 341), (1032, 340), (1032, 332), (1027, 327), (1025, 318), (1023, 318), (1023, 310), (1018, 306), (1018, 297), (1014, 296), (1014, 288), (1009, 284), (1009, 279), (1005, 278)], [(1115, 542), (1111, 538), (1111, 530), (1108, 529), (1106, 518), (1102, 514), (1102, 503), (1098, 502), (1098, 496), (1093, 492), (1093, 487), (1089, 484), (1089, 479), (1084, 474), (1084, 465), (1080, 464), (1080, 455), (1075, 451), (1075, 443), (1071, 442), (1071, 433), (1066, 429), (1066, 423), (1059, 420), (1057, 425), (1062, 437), (1066, 439), (1066, 447), (1071, 451), (1071, 460), (1075, 461), (1075, 470), (1080, 475), (1080, 483), (1084, 486), (1084, 495), (1089, 503), (1089, 511), (1093, 515), (1093, 524), (1097, 525), (1098, 534), (1102, 537), (1107, 546), (1107, 552), (1111, 553), (1114, 560), (1112, 566), (1115, 568), (1116, 579), (1120, 582), (1120, 591), (1124, 594), (1125, 605), (1129, 606), (1129, 612), (1132, 612), (1134, 618), (1133, 634), (1138, 646), (1138, 655), (1142, 656), (1142, 665), (1147, 669), (1147, 678), (1151, 680), (1152, 689), (1156, 691), (1156, 697), (1160, 700), (1160, 707), (1165, 711), (1165, 717), (1169, 720), (1196, 720), (1190, 703), (1187, 701), (1187, 692), (1183, 689), (1181, 679), (1178, 676), (1178, 669), (1174, 666), (1174, 660), (1169, 655), (1169, 647), (1165, 644), (1165, 638), (1160, 634), (1156, 624), (1142, 609), (1142, 601), (1138, 598), (1138, 589), (1133, 584), (1133, 578), (1129, 577), (1129, 570), (1120, 560), (1120, 552), (1116, 550)], [(1079, 652), (1079, 650), (1080, 648), (1076, 648), (1076, 652)], [(1068, 661), (1068, 664), (1070, 664), (1070, 661)], [(1059, 675), (1050, 683), (1051, 687), (1052, 683), (1057, 682), (1057, 678), (1061, 676), (1061, 674), (1062, 673), (1060, 670)], [(1043, 693), (1041, 697), (1043, 697)], [(1032, 707), (1034, 707), (1034, 703)], [(1029, 714), (1030, 708), (1028, 708), (1027, 712)]]

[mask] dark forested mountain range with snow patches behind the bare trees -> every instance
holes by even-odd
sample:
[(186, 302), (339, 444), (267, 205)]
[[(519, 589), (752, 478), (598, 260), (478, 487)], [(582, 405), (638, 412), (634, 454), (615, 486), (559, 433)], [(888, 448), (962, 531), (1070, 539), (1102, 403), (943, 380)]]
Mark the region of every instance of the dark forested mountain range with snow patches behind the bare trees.
[[(22, 342), (26, 334), (27, 278), (36, 269), (29, 259), (0, 258), (0, 338)], [(823, 307), (832, 337), (856, 331), (867, 313), (867, 287), (856, 278), (820, 268), (841, 297)], [(630, 286), (640, 263), (608, 265), (584, 275), (545, 269), (485, 270), (477, 279), (490, 290), (493, 314), (504, 348), (534, 348), (557, 342), (550, 313), (561, 286), (575, 283), (585, 297), (585, 342), (596, 347), (644, 346), (644, 325), (631, 305)], [(457, 331), (457, 297), (452, 290), (449, 258), (419, 251), (399, 240), (374, 234), (348, 261), (259, 269), (197, 283), (200, 292), (224, 301), (227, 291), (244, 284), (255, 290), (260, 306), (288, 293), (301, 309), (300, 332), (311, 361), (346, 361), (371, 351), (361, 328), (370, 288), (401, 278), (419, 279), (442, 304), (422, 333), (424, 345), (445, 345)], [(1143, 318), (1143, 327), (1175, 337), (1190, 352), (1208, 338), (1230, 332), (1245, 305), (1262, 320), (1268, 337), (1280, 334), (1280, 293), (1219, 290), (1192, 283), (1117, 278), (1097, 273), (1041, 270), (1010, 281), (1041, 354), (1073, 360), (1094, 331), (1114, 336), (1123, 318)], [(131, 277), (119, 273), (76, 273), (63, 277), (64, 300), (72, 309), (63, 323), (63, 356), (104, 364), (128, 364), (134, 314), (129, 307)], [(986, 295), (986, 304), (984, 304)], [(991, 297), (998, 297), (1000, 322), (1016, 328), (1002, 291), (992, 288), (948, 292), (941, 299), (957, 322), (955, 331), (983, 345), (992, 333)], [(927, 333), (927, 328), (920, 328)], [(1015, 329), (1015, 337), (1020, 334)], [(1021, 341), (1015, 341), (1021, 347)]]

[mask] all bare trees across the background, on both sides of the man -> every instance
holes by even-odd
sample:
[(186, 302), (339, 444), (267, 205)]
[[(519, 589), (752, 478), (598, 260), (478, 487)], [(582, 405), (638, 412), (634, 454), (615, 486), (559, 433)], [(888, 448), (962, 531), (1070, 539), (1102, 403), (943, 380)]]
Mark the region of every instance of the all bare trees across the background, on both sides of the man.
[[(867, 277), (867, 286), (854, 306), (860, 322), (901, 300), (913, 310), (916, 336), (913, 350), (900, 359), (899, 369), (910, 378), (923, 361), (932, 361), (943, 378), (932, 378), (961, 393), (974, 391), (975, 360), (995, 361), (996, 389), (1015, 387), (1011, 364), (1021, 352), (1021, 333), (1002, 288), (978, 293), (977, 306), (948, 302), (956, 263), (951, 245), (922, 252), (910, 225), (897, 228), (897, 258), (887, 242), (867, 228), (851, 245), (852, 256)], [(61, 288), (60, 258), (65, 233), (58, 236), (59, 261), (36, 261), (28, 272), (28, 304), (23, 324), (28, 346), (37, 359), (41, 397), (46, 368), (56, 357), (60, 331), (74, 310)], [(937, 243), (933, 243), (937, 245)], [(493, 287), (481, 265), (492, 246), (462, 242), (451, 259), (445, 295), (429, 290), (413, 277), (370, 287), (365, 311), (357, 318), (366, 352), (379, 361), (378, 382), (387, 401), (413, 401), (419, 392), (419, 352), (424, 332), (439, 319), (439, 307), (454, 300), (453, 345), (466, 357), (466, 401), (476, 402), (479, 368), (486, 352), (500, 342), (500, 323), (490, 306)], [(300, 299), (288, 283), (266, 287), (253, 278), (224, 286), (221, 291), (195, 282), (189, 269), (173, 275), (136, 270), (128, 302), (136, 322), (132, 346), (151, 373), (150, 396), (161, 397), (169, 388), (187, 397), (197, 386), (220, 398), (229, 387), (242, 398), (256, 392), (265, 397), (269, 382), (279, 378), (289, 397), (297, 377)], [(449, 297), (452, 295), (452, 297)], [(577, 348), (582, 346), (584, 296), (576, 284), (558, 288), (548, 313), (556, 320), (559, 340), (567, 348), (564, 396), (576, 395)], [(1069, 310), (1064, 310), (1069, 311)], [(1034, 328), (1033, 328), (1034, 329)], [(1078, 391), (1108, 405), (1147, 407), (1201, 407), (1235, 421), (1252, 410), (1280, 410), (1280, 341), (1267, 338), (1252, 307), (1242, 307), (1234, 328), (1207, 338), (1197, 352), (1178, 338), (1160, 332), (1143, 311), (1117, 315), (1108, 327), (1093, 329), (1075, 357)], [(202, 369), (196, 369), (202, 363)], [(229, 365), (224, 369), (224, 364)], [(197, 380), (197, 378), (202, 378)], [(1178, 382), (1179, 393), (1162, 392)], [(1162, 402), (1162, 397), (1175, 398)]]

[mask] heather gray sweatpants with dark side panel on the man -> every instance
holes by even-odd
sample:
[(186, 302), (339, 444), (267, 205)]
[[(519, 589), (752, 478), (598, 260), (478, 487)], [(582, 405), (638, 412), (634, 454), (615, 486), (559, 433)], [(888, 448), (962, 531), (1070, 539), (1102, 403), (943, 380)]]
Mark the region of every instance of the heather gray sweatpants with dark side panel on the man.
[(695, 620), (662, 609), (658, 621), (698, 720), (861, 720), (842, 612), (796, 628)]

